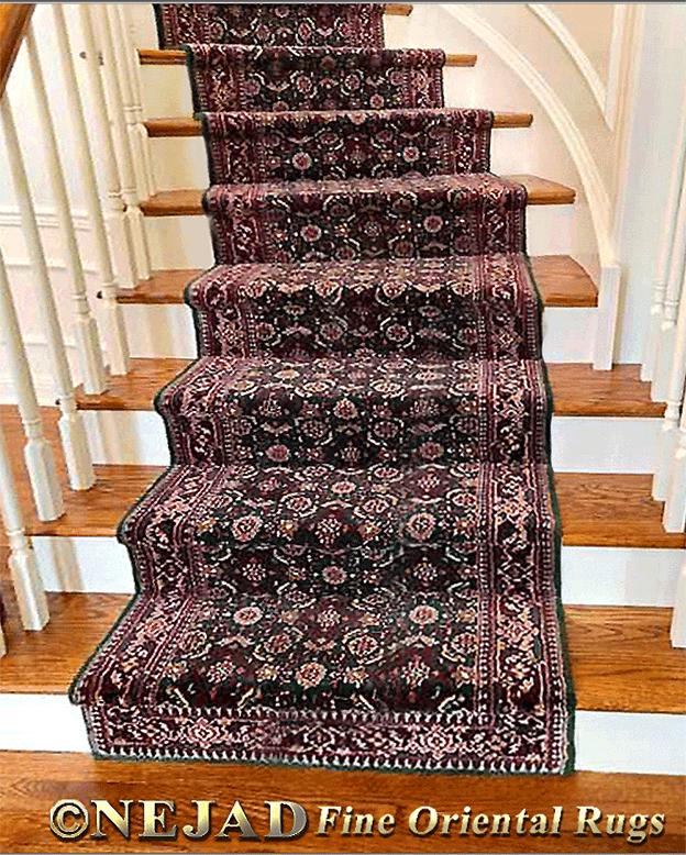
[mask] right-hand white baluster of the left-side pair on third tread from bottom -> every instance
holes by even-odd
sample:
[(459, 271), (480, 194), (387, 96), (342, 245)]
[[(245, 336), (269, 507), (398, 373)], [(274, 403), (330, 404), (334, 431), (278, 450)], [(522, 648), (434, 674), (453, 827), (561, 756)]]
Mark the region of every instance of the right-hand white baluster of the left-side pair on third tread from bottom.
[(104, 303), (104, 338), (110, 371), (111, 374), (121, 375), (129, 371), (129, 345), (126, 343), (126, 331), (124, 329), (121, 306), (117, 302), (118, 281), (114, 276), (114, 265), (112, 263), (112, 255), (107, 240), (107, 230), (102, 215), (102, 207), (100, 204), (100, 196), (98, 193), (96, 170), (90, 152), (90, 143), (88, 142), (86, 120), (84, 119), (84, 106), (76, 81), (76, 69), (74, 67), (71, 45), (69, 43), (64, 10), (60, 3), (53, 3), (52, 8), (55, 16), (57, 46), (62, 58), (65, 92), (76, 137), (80, 179), (86, 192), (88, 212), (93, 227), (101, 284), (100, 295)]

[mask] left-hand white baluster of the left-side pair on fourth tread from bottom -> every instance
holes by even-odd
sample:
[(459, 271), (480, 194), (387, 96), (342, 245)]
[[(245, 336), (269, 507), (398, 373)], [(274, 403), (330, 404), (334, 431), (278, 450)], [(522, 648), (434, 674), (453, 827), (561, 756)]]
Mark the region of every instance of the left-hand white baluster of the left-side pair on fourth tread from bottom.
[(100, 63), (96, 35), (92, 27), (88, 3), (79, 5), (81, 30), (86, 44), (86, 67), (88, 82), (93, 101), (93, 112), (100, 137), (101, 157), (104, 165), (107, 197), (109, 209), (106, 214), (112, 255), (119, 279), (124, 288), (134, 288), (139, 282), (136, 254), (131, 235), (131, 223), (125, 215), (125, 204), (122, 196), (119, 167), (114, 153), (114, 143), (110, 121), (107, 115), (104, 88), (100, 77)]

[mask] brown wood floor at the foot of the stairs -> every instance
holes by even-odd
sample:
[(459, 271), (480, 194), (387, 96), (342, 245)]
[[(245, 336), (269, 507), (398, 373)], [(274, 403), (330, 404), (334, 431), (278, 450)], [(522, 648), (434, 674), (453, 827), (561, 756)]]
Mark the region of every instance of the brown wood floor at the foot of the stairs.
[[(660, 775), (602, 775), (576, 773), (569, 777), (491, 778), (455, 775), (396, 775), (374, 771), (332, 771), (289, 769), (265, 766), (231, 766), (203, 763), (126, 763), (95, 760), (85, 754), (0, 753), (0, 846), (3, 852), (646, 852), (684, 851), (684, 792), (686, 779)], [(107, 840), (58, 841), (49, 831), (48, 814), (58, 799), (107, 799), (121, 810), (120, 799), (168, 799), (176, 815), (169, 817), (179, 829), (176, 840), (140, 841), (142, 808), (131, 808), (132, 839), (126, 842), (108, 822)], [(180, 830), (195, 826), (191, 799), (213, 799), (212, 832), (217, 834), (237, 799), (261, 840), (239, 843), (188, 841)], [(285, 800), (301, 804), (309, 828), (297, 841), (265, 841), (267, 808), (265, 801)], [(351, 806), (355, 813), (373, 813), (378, 820), (386, 813), (396, 819), (394, 833), (381, 837), (376, 832), (363, 840), (339, 833), (340, 821), (329, 836), (318, 836), (320, 806)], [(552, 817), (553, 807), (563, 808), (560, 836), (532, 837), (512, 833), (507, 836), (458, 836), (460, 824), (451, 836), (439, 832), (429, 839), (409, 831), (409, 817), (421, 806), (433, 807), (439, 814), (472, 815), (509, 813), (525, 809), (529, 817)], [(576, 836), (578, 806), (602, 811), (601, 836)], [(642, 846), (629, 846), (623, 835), (607, 836), (608, 814), (665, 814), (662, 836), (651, 836)], [(92, 815), (92, 814), (91, 814)], [(514, 821), (512, 823), (514, 826)], [(288, 828), (286, 825), (286, 828)], [(524, 826), (531, 828), (530, 823)], [(92, 832), (93, 829), (91, 828)]]

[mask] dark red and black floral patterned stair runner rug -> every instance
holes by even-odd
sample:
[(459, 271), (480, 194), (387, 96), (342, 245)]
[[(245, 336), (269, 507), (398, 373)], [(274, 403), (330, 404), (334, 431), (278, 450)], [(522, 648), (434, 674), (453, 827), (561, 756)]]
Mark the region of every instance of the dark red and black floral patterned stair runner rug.
[(93, 752), (569, 771), (541, 304), (493, 115), (445, 109), (442, 52), (386, 51), (369, 4), (157, 14), (206, 42), (215, 267), (156, 398), (172, 465), (119, 530), (136, 595), (71, 687)]

